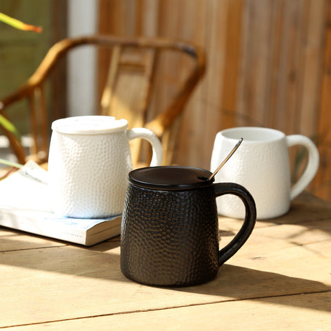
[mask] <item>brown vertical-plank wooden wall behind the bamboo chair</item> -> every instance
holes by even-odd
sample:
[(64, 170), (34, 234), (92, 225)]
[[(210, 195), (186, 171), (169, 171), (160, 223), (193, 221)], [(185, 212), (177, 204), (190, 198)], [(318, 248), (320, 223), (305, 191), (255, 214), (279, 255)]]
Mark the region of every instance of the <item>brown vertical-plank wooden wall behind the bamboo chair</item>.
[(331, 199), (330, 0), (99, 0), (99, 6), (101, 33), (186, 39), (205, 48), (208, 69), (181, 119), (175, 163), (209, 168), (223, 128), (305, 134), (321, 153), (310, 190)]

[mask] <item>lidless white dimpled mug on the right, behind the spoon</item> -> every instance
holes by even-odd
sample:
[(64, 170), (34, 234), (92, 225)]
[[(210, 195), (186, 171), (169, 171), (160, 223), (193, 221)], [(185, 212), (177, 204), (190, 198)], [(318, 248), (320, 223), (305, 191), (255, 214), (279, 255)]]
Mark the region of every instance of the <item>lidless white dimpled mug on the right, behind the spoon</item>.
[[(290, 210), (290, 201), (297, 197), (314, 178), (319, 168), (319, 152), (312, 141), (301, 134), (286, 136), (270, 128), (230, 128), (217, 133), (212, 150), (210, 170), (213, 172), (234, 145), (243, 142), (223, 168), (215, 181), (243, 185), (257, 205), (257, 218), (279, 217)], [(308, 164), (291, 187), (288, 148), (304, 146), (308, 150)], [(217, 198), (219, 214), (243, 218), (245, 210), (237, 197)]]

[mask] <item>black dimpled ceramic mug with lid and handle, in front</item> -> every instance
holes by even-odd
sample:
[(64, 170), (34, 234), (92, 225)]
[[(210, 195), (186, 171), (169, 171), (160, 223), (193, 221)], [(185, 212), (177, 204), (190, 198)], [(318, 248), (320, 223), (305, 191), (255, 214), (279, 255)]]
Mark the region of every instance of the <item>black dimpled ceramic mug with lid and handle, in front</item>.
[[(213, 279), (250, 237), (254, 199), (243, 186), (212, 183), (199, 168), (160, 166), (129, 173), (121, 225), (121, 271), (138, 283), (188, 286)], [(216, 197), (234, 194), (245, 205), (237, 235), (219, 250)]]

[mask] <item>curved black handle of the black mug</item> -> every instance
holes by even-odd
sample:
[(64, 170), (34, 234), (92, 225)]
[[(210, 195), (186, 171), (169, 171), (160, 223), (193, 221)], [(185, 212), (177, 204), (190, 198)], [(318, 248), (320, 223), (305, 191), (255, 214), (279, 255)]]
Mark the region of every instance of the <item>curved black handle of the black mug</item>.
[(241, 229), (234, 239), (219, 251), (219, 266), (221, 266), (225, 261), (237, 253), (239, 248), (241, 248), (248, 237), (250, 237), (257, 219), (257, 208), (252, 195), (243, 186), (236, 183), (216, 183), (213, 185), (215, 189), (215, 197), (224, 194), (234, 194), (243, 201), (246, 210), (245, 220), (243, 221)]

